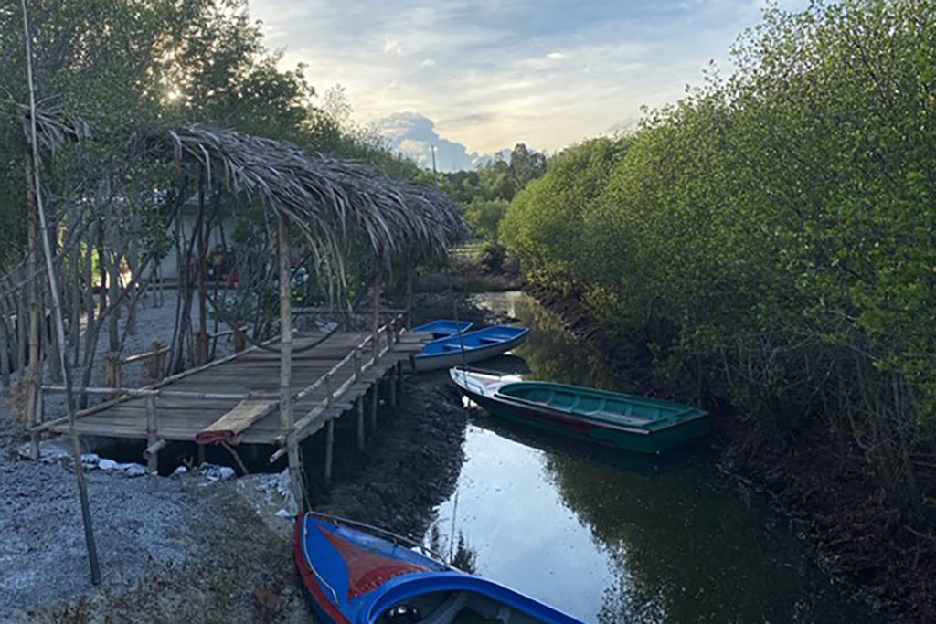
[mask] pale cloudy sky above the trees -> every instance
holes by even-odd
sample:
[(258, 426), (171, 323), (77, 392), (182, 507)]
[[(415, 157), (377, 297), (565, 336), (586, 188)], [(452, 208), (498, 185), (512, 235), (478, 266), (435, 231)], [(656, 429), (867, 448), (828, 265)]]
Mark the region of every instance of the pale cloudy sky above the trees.
[[(424, 166), (470, 168), (518, 142), (558, 152), (675, 102), (766, 0), (250, 0), (282, 64)], [(783, 8), (806, 0), (779, 0)]]

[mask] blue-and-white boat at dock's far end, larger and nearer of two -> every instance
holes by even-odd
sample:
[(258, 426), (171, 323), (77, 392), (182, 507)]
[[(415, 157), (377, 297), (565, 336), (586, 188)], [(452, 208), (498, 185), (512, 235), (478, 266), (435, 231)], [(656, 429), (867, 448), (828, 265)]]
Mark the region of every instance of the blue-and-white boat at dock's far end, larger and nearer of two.
[(529, 333), (530, 327), (498, 325), (431, 341), (413, 358), (416, 370), (450, 369), (500, 356)]

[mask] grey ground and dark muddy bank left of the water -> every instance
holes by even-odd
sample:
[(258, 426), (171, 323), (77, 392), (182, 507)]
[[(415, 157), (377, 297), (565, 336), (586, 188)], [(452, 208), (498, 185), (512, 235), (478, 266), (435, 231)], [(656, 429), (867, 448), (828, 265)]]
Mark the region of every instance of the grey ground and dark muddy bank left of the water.
[[(447, 310), (447, 314), (441, 311)], [(458, 310), (498, 320), (461, 294), (420, 294), (417, 321)], [(281, 477), (210, 481), (87, 472), (103, 583), (90, 584), (68, 459), (16, 453), (22, 431), (0, 418), (0, 621), (305, 622), (291, 518)], [(420, 539), (461, 468), (467, 415), (446, 378), (406, 382), (401, 406), (382, 405), (376, 437), (358, 452), (353, 419), (336, 421), (334, 485), (321, 484), (321, 453), (304, 449), (314, 508)]]

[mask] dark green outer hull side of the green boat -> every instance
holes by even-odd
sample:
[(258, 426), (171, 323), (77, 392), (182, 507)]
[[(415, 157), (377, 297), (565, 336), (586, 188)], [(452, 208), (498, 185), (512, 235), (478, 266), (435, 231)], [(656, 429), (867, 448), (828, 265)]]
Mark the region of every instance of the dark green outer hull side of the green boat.
[(701, 438), (708, 434), (711, 428), (709, 418), (704, 413), (656, 430), (598, 423), (574, 414), (563, 414), (546, 405), (532, 406), (496, 395), (489, 396), (460, 384), (454, 372), (452, 379), (465, 397), (505, 421), (625, 451), (661, 453)]

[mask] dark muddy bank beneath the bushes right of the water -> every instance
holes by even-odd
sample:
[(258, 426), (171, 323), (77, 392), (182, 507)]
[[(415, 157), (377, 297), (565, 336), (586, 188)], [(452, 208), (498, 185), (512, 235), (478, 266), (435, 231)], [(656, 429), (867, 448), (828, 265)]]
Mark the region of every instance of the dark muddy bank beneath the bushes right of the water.
[[(575, 297), (542, 287), (527, 292), (559, 317), (565, 328), (607, 357), (636, 391), (653, 387), (649, 354), (615, 336)], [(892, 621), (936, 619), (936, 542), (916, 539), (899, 509), (872, 485), (857, 462), (837, 463), (817, 431), (777, 443), (743, 414), (715, 410), (709, 443), (720, 468), (739, 486), (768, 498), (790, 518), (816, 564), (846, 584), (856, 600)], [(927, 547), (929, 544), (929, 547)]]

